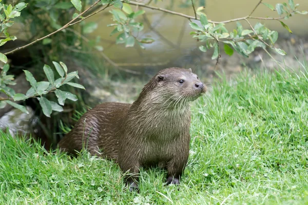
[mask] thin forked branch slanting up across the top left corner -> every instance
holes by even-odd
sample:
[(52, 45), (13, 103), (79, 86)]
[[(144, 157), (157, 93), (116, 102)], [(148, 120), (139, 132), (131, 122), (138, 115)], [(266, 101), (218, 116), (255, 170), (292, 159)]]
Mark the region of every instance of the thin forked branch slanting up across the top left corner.
[(107, 7), (110, 6), (110, 5), (108, 4), (108, 5), (107, 5), (106, 7), (104, 7), (103, 9), (101, 9), (101, 10), (95, 12), (95, 13), (92, 13), (92, 14), (88, 15), (87, 17), (82, 18), (82, 19), (79, 20), (78, 22), (72, 23), (72, 22), (74, 22), (75, 19), (79, 18), (82, 14), (84, 14), (85, 12), (87, 12), (87, 11), (88, 11), (89, 9), (91, 9), (93, 6), (97, 5), (99, 2), (100, 2), (100, 0), (96, 1), (96, 2), (95, 2), (94, 4), (92, 4), (89, 8), (87, 8), (85, 11), (83, 11), (82, 13), (80, 13), (80, 14), (79, 14), (78, 16), (76, 16), (74, 19), (70, 20), (70, 22), (68, 22), (66, 25), (64, 25), (64, 26), (61, 27), (60, 29), (58, 29), (58, 30), (56, 30), (56, 31), (54, 31), (54, 32), (52, 32), (52, 33), (50, 33), (50, 34), (48, 34), (48, 35), (42, 37), (42, 38), (38, 38), (38, 39), (34, 40), (33, 42), (31, 42), (31, 43), (25, 45), (25, 46), (15, 48), (14, 50), (9, 51), (9, 52), (4, 53), (4, 54), (7, 55), (7, 54), (13, 53), (13, 52), (15, 52), (15, 51), (17, 51), (17, 50), (24, 49), (24, 48), (26, 48), (26, 47), (28, 47), (28, 46), (31, 46), (31, 45), (35, 44), (36, 42), (39, 42), (40, 40), (43, 40), (43, 39), (45, 39), (45, 38), (47, 38), (47, 37), (49, 37), (49, 36), (51, 36), (51, 35), (53, 35), (53, 34), (59, 32), (59, 31), (62, 31), (63, 29), (66, 29), (66, 28), (69, 27), (69, 26), (72, 26), (72, 25), (74, 25), (74, 24), (77, 24), (77, 23), (81, 22), (82, 20), (84, 20), (84, 19), (86, 19), (86, 18), (88, 18), (88, 17), (90, 17), (90, 16), (92, 16), (92, 15), (94, 15), (94, 14), (96, 14), (96, 13), (102, 11), (102, 10), (105, 10)]

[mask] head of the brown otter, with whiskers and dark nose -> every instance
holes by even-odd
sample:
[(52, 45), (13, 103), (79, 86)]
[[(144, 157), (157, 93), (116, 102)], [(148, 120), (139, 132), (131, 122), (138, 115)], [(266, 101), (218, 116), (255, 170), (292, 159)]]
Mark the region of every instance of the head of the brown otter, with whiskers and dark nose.
[(206, 86), (190, 68), (163, 69), (151, 79), (149, 85), (166, 103), (187, 103), (206, 92)]

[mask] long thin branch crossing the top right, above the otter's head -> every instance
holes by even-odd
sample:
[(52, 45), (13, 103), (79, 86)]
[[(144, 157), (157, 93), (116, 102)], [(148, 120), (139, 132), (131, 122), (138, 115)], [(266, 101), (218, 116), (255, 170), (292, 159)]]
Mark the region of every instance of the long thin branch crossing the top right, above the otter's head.
[[(148, 6), (146, 4), (142, 4), (142, 3), (127, 2), (127, 4), (145, 7), (145, 8), (148, 8), (148, 9), (153, 9), (153, 10), (158, 10), (158, 11), (163, 11), (163, 12), (166, 12), (166, 13), (171, 13), (171, 14), (174, 14), (174, 15), (178, 15), (178, 16), (188, 18), (189, 20), (191, 20), (191, 19), (200, 20), (200, 18), (196, 18), (195, 16), (190, 16), (190, 15), (186, 15), (186, 14), (183, 14), (183, 13), (170, 11), (168, 9), (162, 9), (162, 8), (159, 8), (159, 7), (152, 7), (152, 6)], [(246, 18), (253, 18), (253, 19), (259, 19), (259, 20), (279, 20), (279, 19), (283, 19), (284, 17), (277, 17), (277, 18), (266, 17), (266, 18), (264, 18), (264, 17), (244, 16), (244, 17), (240, 17), (240, 18), (224, 20), (222, 22), (214, 22), (213, 20), (208, 20), (208, 22), (212, 23), (212, 24), (228, 24), (228, 23), (232, 23), (232, 22), (238, 22), (239, 20), (245, 20)]]

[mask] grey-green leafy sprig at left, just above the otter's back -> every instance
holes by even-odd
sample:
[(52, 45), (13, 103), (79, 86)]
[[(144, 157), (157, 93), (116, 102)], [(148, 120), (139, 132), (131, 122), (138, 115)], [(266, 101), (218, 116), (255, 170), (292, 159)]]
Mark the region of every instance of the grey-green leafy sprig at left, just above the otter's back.
[[(26, 94), (23, 93), (15, 93), (15, 91), (12, 88), (9, 88), (8, 85), (15, 85), (13, 79), (13, 75), (7, 75), (7, 71), (9, 70), (9, 65), (6, 64), (1, 72), (0, 75), (0, 88), (2, 92), (4, 92), (8, 98), (2, 98), (1, 100), (1, 107), (4, 107), (6, 103), (10, 104), (11, 106), (20, 109), (23, 112), (28, 113), (27, 109), (22, 106), (14, 103), (11, 100), (14, 101), (20, 101), (20, 100), (26, 100), (28, 98), (37, 98), (40, 101), (40, 105), (43, 109), (43, 113), (50, 117), (50, 114), (52, 111), (62, 112), (63, 108), (60, 105), (64, 105), (64, 101), (66, 99), (70, 99), (73, 101), (76, 101), (78, 98), (76, 95), (65, 92), (60, 90), (59, 88), (65, 84), (69, 86), (73, 86), (76, 88), (85, 89), (82, 85), (76, 84), (76, 83), (70, 83), (69, 81), (72, 80), (74, 77), (79, 78), (78, 71), (73, 71), (70, 73), (67, 73), (67, 67), (64, 63), (60, 62), (60, 64), (53, 62), (56, 71), (60, 75), (60, 78), (54, 79), (54, 73), (52, 69), (48, 66), (44, 66), (44, 72), (48, 79), (48, 81), (39, 81), (37, 82), (36, 79), (33, 77), (33, 75), (27, 71), (24, 70), (26, 74), (26, 79), (29, 81), (31, 88), (27, 91)], [(59, 104), (49, 101), (46, 97), (43, 95), (46, 95), (47, 93), (54, 92), (56, 97), (58, 98)]]

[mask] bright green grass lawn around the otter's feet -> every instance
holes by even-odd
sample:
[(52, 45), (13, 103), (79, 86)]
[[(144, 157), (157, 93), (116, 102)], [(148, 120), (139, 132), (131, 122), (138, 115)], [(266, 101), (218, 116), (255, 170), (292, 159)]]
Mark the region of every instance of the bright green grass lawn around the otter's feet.
[(308, 204), (308, 79), (243, 73), (192, 104), (179, 190), (141, 171), (140, 194), (113, 162), (46, 153), (0, 133), (0, 204)]

